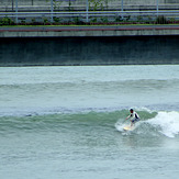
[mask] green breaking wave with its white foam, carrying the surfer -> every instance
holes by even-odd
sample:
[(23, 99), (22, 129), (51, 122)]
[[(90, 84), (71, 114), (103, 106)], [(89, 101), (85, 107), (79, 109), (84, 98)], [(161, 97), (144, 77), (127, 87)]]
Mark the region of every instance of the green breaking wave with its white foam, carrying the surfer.
[[(109, 110), (109, 109), (108, 109)], [(123, 126), (130, 124), (125, 118), (128, 110), (94, 110), (66, 111), (53, 114), (30, 114), (24, 116), (0, 116), (0, 133), (12, 131), (58, 131), (64, 128), (97, 127), (97, 130), (119, 131), (126, 135)], [(146, 108), (136, 109), (141, 121), (136, 123), (135, 130), (127, 135), (139, 135), (139, 137), (177, 137), (179, 135), (179, 112), (177, 111), (152, 111)], [(75, 130), (74, 128), (74, 130)]]

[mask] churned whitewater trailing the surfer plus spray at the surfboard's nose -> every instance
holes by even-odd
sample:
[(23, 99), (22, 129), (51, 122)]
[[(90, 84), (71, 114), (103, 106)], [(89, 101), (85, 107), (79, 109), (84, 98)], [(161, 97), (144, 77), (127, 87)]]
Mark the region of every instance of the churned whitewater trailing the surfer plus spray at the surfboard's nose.
[[(159, 111), (152, 112), (150, 114), (154, 116), (147, 119), (148, 113), (143, 112), (147, 116), (143, 116), (142, 120), (136, 123), (135, 130), (132, 134), (139, 134), (142, 136), (167, 136), (167, 137), (176, 137), (179, 134), (179, 112), (177, 111)], [(130, 124), (130, 123), (128, 123)], [(123, 132), (123, 127), (126, 123), (121, 123), (118, 121), (115, 123), (115, 127), (118, 131)], [(127, 133), (131, 135), (131, 133)]]

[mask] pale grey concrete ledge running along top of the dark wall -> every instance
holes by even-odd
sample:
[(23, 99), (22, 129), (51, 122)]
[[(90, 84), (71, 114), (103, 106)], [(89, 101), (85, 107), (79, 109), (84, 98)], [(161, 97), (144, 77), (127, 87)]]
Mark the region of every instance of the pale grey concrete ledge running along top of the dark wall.
[(157, 26), (68, 26), (1, 27), (0, 37), (99, 37), (99, 36), (179, 35), (176, 25)]

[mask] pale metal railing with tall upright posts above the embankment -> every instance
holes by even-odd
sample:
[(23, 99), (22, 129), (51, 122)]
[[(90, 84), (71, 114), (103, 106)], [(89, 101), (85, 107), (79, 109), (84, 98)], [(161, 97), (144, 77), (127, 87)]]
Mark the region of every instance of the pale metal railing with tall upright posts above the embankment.
[[(145, 11), (125, 11), (124, 10), (124, 0), (121, 0), (121, 9), (115, 11), (89, 11), (89, 0), (86, 0), (86, 8), (85, 11), (68, 11), (68, 12), (57, 12), (54, 10), (54, 0), (49, 0), (51, 11), (45, 12), (19, 12), (19, 4), (18, 0), (15, 0), (15, 12), (0, 12), (0, 19), (2, 18), (11, 18), (18, 24), (22, 19), (32, 19), (38, 18), (41, 20), (47, 18), (51, 23), (54, 22), (54, 18), (80, 18), (85, 22), (89, 22), (91, 18), (111, 18), (120, 20), (124, 20), (125, 16), (130, 16), (131, 20), (135, 21), (136, 19), (141, 18), (148, 18), (148, 19), (156, 19), (157, 16), (161, 15), (166, 19), (176, 19), (179, 20), (179, 10), (159, 10), (158, 0), (156, 0), (156, 9), (155, 10), (145, 10)], [(40, 21), (41, 21), (40, 20)]]

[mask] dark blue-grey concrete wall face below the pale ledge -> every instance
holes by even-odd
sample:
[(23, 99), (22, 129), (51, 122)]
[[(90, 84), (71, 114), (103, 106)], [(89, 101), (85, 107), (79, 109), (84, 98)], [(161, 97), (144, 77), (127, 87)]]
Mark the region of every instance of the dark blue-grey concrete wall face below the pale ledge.
[(0, 66), (179, 64), (179, 36), (0, 38)]

